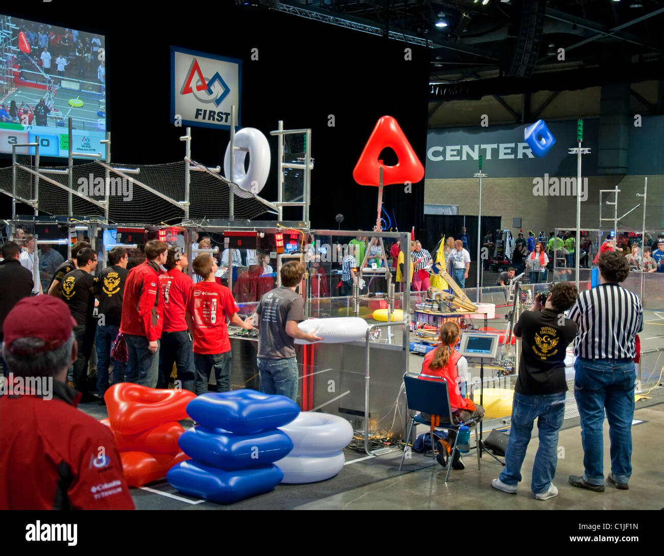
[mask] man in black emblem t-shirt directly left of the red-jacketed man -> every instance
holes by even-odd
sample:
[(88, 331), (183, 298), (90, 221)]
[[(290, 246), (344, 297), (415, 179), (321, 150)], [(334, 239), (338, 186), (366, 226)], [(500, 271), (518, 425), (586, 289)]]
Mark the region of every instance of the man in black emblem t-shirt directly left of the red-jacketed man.
[[(98, 277), (99, 316), (94, 345), (97, 350), (97, 395), (99, 405), (106, 405), (104, 394), (108, 390), (108, 367), (110, 365), (111, 344), (120, 332), (122, 320), (122, 298), (127, 280), (129, 255), (124, 247), (113, 247), (108, 251), (110, 266), (102, 270)], [(124, 382), (125, 364), (113, 360), (113, 383)]]

